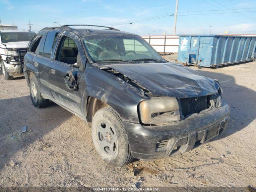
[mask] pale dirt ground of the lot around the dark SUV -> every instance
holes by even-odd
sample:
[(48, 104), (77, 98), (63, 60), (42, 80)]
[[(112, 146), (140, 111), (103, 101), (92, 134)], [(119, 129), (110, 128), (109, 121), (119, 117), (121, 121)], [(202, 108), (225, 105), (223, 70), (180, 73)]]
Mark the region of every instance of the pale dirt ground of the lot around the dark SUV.
[(100, 159), (90, 125), (52, 102), (35, 108), (26, 80), (1, 74), (0, 186), (256, 186), (256, 62), (200, 72), (222, 85), (228, 129), (182, 155), (123, 168)]

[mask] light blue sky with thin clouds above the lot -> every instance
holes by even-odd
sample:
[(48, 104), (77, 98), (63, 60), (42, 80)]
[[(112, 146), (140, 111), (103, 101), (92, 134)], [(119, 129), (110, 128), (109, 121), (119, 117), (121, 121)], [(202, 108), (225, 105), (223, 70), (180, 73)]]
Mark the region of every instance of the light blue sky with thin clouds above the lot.
[[(172, 34), (174, 16), (129, 22), (173, 14), (175, 4), (176, 0), (0, 0), (0, 17), (2, 24), (14, 22), (19, 30), (28, 30), (30, 20), (35, 32), (56, 26), (54, 21), (96, 25), (125, 22), (114, 27), (140, 35), (162, 35)], [(179, 0), (178, 12), (177, 34), (209, 33), (210, 25), (212, 33), (217, 34), (256, 34), (255, 0)]]

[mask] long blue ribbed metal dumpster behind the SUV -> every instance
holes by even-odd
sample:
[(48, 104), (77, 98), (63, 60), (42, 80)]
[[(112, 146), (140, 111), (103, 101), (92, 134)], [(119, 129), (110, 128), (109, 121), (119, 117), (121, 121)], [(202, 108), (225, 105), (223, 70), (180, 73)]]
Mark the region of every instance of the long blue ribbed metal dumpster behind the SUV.
[(256, 58), (256, 36), (180, 35), (178, 62), (216, 67)]

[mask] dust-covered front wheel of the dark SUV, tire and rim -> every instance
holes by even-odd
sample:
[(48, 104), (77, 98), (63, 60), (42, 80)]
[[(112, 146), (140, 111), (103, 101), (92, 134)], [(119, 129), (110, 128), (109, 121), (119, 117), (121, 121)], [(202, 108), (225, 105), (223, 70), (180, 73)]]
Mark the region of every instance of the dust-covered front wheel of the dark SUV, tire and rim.
[[(110, 130), (110, 133), (107, 130)], [(94, 115), (92, 140), (98, 154), (111, 166), (123, 166), (133, 159), (124, 125), (117, 112), (111, 107), (102, 108)], [(114, 146), (113, 149), (115, 149), (104, 147), (105, 144)]]

